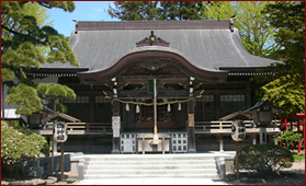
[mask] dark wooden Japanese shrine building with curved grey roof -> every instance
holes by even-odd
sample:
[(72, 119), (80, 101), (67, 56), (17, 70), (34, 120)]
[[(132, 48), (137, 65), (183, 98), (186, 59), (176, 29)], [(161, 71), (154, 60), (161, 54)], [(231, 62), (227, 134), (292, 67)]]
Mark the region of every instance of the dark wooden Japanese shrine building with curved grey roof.
[[(250, 108), (262, 85), (250, 78), (280, 62), (250, 55), (233, 20), (77, 21), (70, 45), (80, 67), (55, 62), (26, 74), (75, 90), (77, 100), (65, 102), (67, 114), (81, 120), (68, 124), (65, 151), (73, 152), (136, 152), (137, 135), (154, 132), (152, 79), (158, 133), (170, 136), (170, 152), (234, 150), (230, 121), (218, 119)], [(120, 116), (120, 130), (112, 130), (112, 116)], [(250, 121), (242, 146), (258, 136)], [(128, 150), (125, 139), (133, 141)]]

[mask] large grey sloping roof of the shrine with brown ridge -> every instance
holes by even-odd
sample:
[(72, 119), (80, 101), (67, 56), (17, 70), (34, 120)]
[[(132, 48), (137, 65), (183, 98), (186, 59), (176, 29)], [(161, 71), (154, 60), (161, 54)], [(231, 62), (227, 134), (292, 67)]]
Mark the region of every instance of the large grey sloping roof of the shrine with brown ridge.
[[(188, 57), (200, 69), (267, 67), (280, 62), (250, 55), (242, 46), (231, 20), (220, 21), (78, 21), (71, 32), (70, 45), (80, 62), (79, 68), (106, 70), (125, 54), (137, 48), (154, 31), (169, 43), (169, 49)], [(167, 47), (168, 48), (168, 47)], [(154, 50), (154, 49), (151, 49)], [(71, 68), (69, 63), (43, 65), (44, 68)]]

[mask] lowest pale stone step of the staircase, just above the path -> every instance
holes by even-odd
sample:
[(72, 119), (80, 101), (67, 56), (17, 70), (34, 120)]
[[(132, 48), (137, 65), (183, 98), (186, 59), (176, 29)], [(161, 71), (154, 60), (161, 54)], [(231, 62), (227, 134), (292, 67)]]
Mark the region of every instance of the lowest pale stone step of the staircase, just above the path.
[(218, 174), (124, 174), (124, 175), (84, 175), (86, 179), (105, 178), (219, 178)]

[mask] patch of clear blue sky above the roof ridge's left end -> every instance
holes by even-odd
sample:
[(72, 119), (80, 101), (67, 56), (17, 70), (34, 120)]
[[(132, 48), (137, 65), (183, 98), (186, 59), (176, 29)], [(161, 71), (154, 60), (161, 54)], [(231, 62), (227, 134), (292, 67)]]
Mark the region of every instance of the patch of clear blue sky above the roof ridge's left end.
[(118, 21), (112, 19), (107, 14), (109, 4), (114, 7), (114, 1), (73, 1), (76, 9), (72, 13), (65, 12), (61, 9), (50, 9), (49, 21), (54, 20), (53, 27), (57, 30), (59, 34), (70, 36), (71, 31), (75, 30), (76, 23), (72, 20), (78, 21)]

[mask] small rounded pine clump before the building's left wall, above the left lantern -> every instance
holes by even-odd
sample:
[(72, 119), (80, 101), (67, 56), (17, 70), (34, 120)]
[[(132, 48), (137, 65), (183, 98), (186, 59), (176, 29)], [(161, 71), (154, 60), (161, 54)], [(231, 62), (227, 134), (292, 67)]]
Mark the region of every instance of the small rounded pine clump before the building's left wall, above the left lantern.
[(59, 111), (61, 113), (67, 111), (66, 106), (63, 105), (63, 98), (76, 100), (77, 97), (73, 90), (67, 85), (56, 83), (39, 83), (37, 85), (37, 92), (43, 98), (49, 101), (49, 104), (53, 105), (54, 112)]

